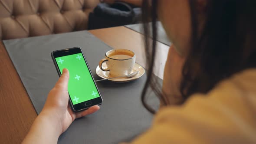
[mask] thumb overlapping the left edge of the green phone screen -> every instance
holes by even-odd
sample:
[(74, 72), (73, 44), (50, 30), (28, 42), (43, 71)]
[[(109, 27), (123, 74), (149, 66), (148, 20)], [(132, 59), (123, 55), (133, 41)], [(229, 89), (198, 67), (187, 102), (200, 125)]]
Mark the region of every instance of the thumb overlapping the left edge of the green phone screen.
[(62, 89), (68, 89), (68, 83), (69, 83), (69, 70), (64, 68), (62, 70), (62, 75), (60, 76), (58, 82), (56, 83), (56, 88), (62, 88)]

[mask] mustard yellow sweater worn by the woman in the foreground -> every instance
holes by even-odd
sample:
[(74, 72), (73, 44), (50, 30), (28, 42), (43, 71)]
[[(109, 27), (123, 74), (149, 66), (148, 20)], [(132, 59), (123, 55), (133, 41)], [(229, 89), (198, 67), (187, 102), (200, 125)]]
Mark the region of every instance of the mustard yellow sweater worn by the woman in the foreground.
[(132, 144), (256, 144), (256, 69), (240, 72), (207, 95), (161, 108)]

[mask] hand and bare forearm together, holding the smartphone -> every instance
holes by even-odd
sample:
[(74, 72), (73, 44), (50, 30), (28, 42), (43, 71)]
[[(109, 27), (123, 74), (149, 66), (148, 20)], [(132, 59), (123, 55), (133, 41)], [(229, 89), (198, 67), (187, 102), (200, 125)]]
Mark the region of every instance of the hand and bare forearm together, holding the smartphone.
[(58, 82), (49, 92), (43, 110), (26, 135), (24, 144), (56, 144), (59, 135), (66, 131), (75, 118), (81, 118), (99, 110), (99, 106), (95, 105), (85, 111), (73, 112), (69, 105), (68, 82), (69, 71), (63, 69)]

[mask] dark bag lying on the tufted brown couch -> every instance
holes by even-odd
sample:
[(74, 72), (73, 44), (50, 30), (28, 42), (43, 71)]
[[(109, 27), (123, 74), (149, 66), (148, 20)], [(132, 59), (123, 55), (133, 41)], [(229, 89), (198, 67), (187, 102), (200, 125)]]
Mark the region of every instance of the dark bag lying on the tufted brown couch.
[(123, 26), (139, 23), (140, 20), (141, 8), (124, 2), (115, 2), (112, 5), (99, 3), (89, 14), (88, 29)]

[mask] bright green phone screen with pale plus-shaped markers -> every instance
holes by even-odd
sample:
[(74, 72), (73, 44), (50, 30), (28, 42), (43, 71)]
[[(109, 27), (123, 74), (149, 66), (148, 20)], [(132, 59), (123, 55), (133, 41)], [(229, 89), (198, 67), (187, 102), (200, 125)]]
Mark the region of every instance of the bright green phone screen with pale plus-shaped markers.
[(69, 70), (68, 91), (73, 105), (99, 97), (82, 53), (55, 58), (61, 71)]

